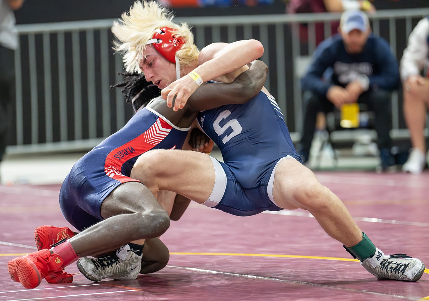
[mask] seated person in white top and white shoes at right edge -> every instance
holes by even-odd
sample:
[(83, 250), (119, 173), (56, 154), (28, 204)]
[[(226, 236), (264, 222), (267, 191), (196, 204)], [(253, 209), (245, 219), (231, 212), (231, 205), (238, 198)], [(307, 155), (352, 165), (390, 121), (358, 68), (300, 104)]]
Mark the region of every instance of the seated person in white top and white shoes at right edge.
[(404, 88), (404, 117), (413, 147), (402, 170), (414, 174), (421, 173), (426, 166), (424, 130), (429, 106), (429, 79), (421, 73), (428, 63), (428, 43), (429, 17), (425, 17), (411, 32), (399, 65)]

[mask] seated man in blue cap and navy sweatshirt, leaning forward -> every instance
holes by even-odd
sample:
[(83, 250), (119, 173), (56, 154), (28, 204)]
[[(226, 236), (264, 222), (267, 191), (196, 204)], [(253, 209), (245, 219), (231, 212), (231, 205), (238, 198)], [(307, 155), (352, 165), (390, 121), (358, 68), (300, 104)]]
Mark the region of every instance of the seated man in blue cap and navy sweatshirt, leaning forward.
[[(325, 70), (332, 77), (323, 80)], [(298, 152), (308, 160), (317, 112), (330, 112), (345, 103), (365, 103), (375, 114), (381, 167), (395, 161), (390, 152), (391, 92), (399, 84), (398, 64), (389, 44), (371, 33), (367, 15), (359, 10), (341, 15), (338, 34), (317, 47), (301, 80), (304, 89), (304, 126)]]

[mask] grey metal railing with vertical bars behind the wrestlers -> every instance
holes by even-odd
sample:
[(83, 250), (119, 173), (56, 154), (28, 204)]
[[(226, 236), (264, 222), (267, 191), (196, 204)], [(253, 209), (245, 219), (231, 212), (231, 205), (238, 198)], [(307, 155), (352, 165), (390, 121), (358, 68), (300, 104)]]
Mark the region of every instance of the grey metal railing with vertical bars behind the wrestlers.
[[(428, 9), (378, 11), (372, 30), (390, 42), (398, 60), (408, 35)], [(340, 14), (252, 15), (176, 18), (193, 26), (199, 48), (213, 42), (260, 40), (269, 66), (266, 87), (275, 96), (293, 140), (302, 127), (300, 76), (314, 51), (315, 24), (325, 37)], [(132, 116), (119, 89), (119, 55), (112, 50), (113, 20), (18, 25), (15, 52), (16, 114), (8, 153), (87, 150), (120, 129)], [(308, 24), (308, 41), (299, 40), (299, 23)], [(405, 130), (402, 97), (393, 97), (393, 133)], [(404, 133), (404, 132), (403, 132)], [(403, 134), (402, 133), (402, 134)]]

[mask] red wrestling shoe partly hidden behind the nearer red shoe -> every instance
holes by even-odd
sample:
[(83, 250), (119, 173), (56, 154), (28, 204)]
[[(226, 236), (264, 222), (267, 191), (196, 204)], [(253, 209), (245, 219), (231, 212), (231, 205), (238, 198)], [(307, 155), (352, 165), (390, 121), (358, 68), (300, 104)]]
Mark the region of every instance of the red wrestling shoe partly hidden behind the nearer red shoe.
[[(34, 230), (34, 239), (38, 250), (50, 249), (53, 244), (73, 236), (75, 236), (75, 233), (67, 227), (40, 226)], [(45, 277), (45, 280), (48, 283), (71, 283), (73, 282), (73, 275), (58, 271)]]

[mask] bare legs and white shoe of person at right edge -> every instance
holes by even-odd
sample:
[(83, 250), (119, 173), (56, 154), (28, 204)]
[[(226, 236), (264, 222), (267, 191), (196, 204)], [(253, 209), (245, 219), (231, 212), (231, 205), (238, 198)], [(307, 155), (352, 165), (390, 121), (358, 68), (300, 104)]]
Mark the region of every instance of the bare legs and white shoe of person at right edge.
[(426, 165), (425, 124), (426, 110), (429, 106), (429, 79), (423, 78), (421, 84), (404, 85), (403, 112), (413, 149), (402, 170), (419, 174)]

